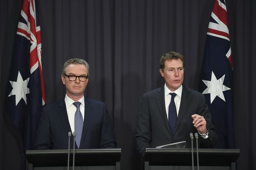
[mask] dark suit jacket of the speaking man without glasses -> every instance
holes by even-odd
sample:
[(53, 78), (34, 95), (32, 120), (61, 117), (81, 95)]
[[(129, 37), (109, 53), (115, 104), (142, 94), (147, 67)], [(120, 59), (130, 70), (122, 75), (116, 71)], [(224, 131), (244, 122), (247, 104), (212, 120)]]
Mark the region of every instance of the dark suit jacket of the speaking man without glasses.
[(164, 102), (164, 87), (143, 94), (135, 136), (136, 149), (140, 155), (144, 155), (145, 148), (155, 148), (159, 145), (183, 140), (186, 140), (186, 148), (189, 148), (191, 146), (189, 133), (192, 132), (194, 134), (197, 132), (192, 123), (193, 118), (191, 118), (191, 115), (193, 114), (204, 116), (209, 131), (207, 139), (199, 135), (199, 147), (211, 148), (212, 142), (217, 139), (217, 135), (214, 132), (211, 115), (202, 93), (183, 86), (174, 134), (170, 132), (168, 126)]

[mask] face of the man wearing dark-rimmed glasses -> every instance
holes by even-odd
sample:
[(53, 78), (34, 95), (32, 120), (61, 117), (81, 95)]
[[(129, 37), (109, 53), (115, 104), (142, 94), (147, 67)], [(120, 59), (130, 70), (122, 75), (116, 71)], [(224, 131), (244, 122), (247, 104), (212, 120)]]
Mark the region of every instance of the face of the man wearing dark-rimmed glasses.
[[(88, 76), (88, 71), (86, 66), (83, 64), (70, 64), (66, 68), (66, 75), (74, 76)], [(86, 89), (88, 79), (84, 82), (81, 82), (77, 77), (75, 81), (70, 81), (67, 76), (61, 76), (62, 83), (65, 84), (67, 89), (67, 95), (71, 99), (78, 99), (83, 96), (83, 92)]]

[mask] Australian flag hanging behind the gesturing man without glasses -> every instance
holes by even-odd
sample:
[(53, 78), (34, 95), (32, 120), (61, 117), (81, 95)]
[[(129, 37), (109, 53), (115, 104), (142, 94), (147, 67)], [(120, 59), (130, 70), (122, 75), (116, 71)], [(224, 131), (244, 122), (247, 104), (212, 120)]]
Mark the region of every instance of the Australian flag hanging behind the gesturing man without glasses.
[(233, 64), (224, 0), (216, 0), (211, 13), (201, 70), (200, 91), (205, 95), (218, 135), (215, 148), (234, 148)]

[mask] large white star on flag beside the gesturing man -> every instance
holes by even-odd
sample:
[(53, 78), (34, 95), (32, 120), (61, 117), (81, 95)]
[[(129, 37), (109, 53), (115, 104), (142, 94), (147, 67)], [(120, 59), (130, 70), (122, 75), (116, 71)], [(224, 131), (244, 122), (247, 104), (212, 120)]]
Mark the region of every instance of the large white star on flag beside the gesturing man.
[(210, 81), (202, 80), (204, 84), (207, 86), (207, 88), (202, 93), (203, 94), (210, 93), (210, 103), (212, 103), (215, 100), (217, 95), (224, 102), (226, 102), (223, 91), (230, 90), (230, 88), (223, 85), (224, 79), (225, 79), (225, 75), (223, 75), (219, 80), (217, 80), (214, 72), (211, 71), (211, 80)]

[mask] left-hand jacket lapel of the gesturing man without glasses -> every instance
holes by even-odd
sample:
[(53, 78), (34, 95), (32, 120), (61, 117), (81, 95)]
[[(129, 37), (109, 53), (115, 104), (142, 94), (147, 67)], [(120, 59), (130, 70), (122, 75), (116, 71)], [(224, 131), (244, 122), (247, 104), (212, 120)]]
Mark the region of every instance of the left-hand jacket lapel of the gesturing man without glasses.
[(170, 132), (169, 124), (168, 124), (168, 119), (167, 119), (167, 114), (166, 114), (166, 109), (165, 109), (165, 100), (164, 100), (164, 87), (160, 88), (159, 95), (156, 95), (156, 103), (160, 111), (160, 115), (163, 119), (163, 123), (167, 131), (169, 132), (170, 135), (172, 135), (172, 132)]

